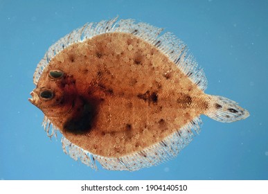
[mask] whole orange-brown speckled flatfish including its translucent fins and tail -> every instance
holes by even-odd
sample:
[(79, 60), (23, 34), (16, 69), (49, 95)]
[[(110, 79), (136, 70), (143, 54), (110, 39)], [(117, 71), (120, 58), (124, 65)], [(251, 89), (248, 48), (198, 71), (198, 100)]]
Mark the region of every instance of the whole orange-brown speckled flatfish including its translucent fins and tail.
[[(73, 30), (37, 65), (30, 103), (59, 130), (73, 159), (109, 170), (139, 170), (171, 159), (199, 134), (199, 116), (247, 118), (232, 100), (204, 94), (207, 81), (186, 44), (133, 19)], [(50, 132), (50, 130), (52, 132)]]

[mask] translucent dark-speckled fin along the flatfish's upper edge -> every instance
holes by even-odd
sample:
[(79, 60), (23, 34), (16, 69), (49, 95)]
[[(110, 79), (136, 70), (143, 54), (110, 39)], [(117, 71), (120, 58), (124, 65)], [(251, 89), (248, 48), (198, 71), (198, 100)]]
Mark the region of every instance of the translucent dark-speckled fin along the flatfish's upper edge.
[(160, 35), (163, 28), (157, 28), (143, 22), (134, 24), (134, 22), (134, 19), (121, 19), (117, 21), (116, 17), (108, 21), (104, 20), (98, 23), (85, 24), (82, 28), (73, 30), (48, 48), (44, 58), (37, 65), (37, 69), (33, 76), (33, 82), (37, 85), (44, 68), (48, 65), (51, 59), (64, 48), (103, 33), (122, 32), (132, 33), (146, 42), (157, 46), (161, 52), (168, 55), (168, 58), (172, 62), (177, 64), (179, 69), (184, 72), (188, 78), (199, 87), (199, 89), (202, 89), (203, 91), (206, 89), (207, 80), (204, 71), (197, 67), (197, 62), (193, 58), (193, 55), (188, 54), (188, 49), (184, 42), (177, 39), (175, 35), (169, 32)]

